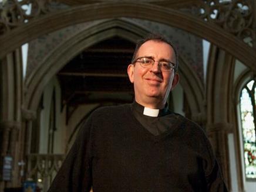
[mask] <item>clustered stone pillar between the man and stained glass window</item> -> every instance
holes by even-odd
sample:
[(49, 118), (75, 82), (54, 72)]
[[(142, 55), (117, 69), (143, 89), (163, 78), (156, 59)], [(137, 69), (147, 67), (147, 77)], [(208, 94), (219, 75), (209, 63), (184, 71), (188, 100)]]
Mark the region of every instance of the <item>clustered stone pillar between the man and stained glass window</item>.
[(234, 58), (211, 46), (207, 68), (207, 126), (208, 137), (215, 156), (221, 164), (227, 187), (231, 188), (228, 133), (234, 128), (230, 118), (233, 94)]

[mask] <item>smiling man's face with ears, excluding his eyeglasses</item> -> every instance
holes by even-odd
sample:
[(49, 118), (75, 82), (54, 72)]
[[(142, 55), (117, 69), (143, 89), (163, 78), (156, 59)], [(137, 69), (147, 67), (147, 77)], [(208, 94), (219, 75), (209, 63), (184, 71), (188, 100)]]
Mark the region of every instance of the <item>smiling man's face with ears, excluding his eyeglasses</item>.
[(145, 107), (163, 108), (170, 90), (178, 83), (178, 74), (174, 74), (174, 70), (161, 71), (157, 61), (176, 63), (174, 50), (167, 43), (149, 40), (138, 50), (138, 57), (151, 57), (156, 62), (151, 68), (144, 68), (139, 62), (128, 66), (127, 73), (134, 84), (135, 100)]

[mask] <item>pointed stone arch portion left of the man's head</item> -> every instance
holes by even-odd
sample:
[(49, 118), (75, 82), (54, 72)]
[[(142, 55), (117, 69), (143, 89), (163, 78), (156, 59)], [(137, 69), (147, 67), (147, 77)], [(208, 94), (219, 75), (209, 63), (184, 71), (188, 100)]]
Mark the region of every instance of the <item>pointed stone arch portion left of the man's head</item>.
[(148, 32), (122, 20), (110, 20), (100, 23), (89, 29), (83, 30), (78, 35), (66, 40), (58, 49), (45, 59), (36, 71), (31, 73), (25, 82), (26, 107), (35, 111), (43, 91), (43, 88), (65, 64), (82, 52), (83, 49), (92, 46), (102, 40), (113, 36), (120, 36), (136, 43), (136, 40)]

